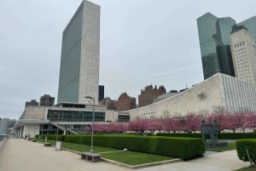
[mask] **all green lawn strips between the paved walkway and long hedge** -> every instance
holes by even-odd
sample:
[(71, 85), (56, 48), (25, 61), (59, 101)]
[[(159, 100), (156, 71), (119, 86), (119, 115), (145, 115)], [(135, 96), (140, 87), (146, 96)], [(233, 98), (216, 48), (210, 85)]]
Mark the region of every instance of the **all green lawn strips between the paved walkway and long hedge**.
[[(39, 141), (39, 140), (38, 140)], [(47, 140), (52, 145), (55, 145), (55, 140)], [(73, 151), (90, 151), (90, 145), (79, 145), (74, 143), (62, 142), (63, 148)], [(118, 151), (113, 148), (93, 146), (93, 150), (96, 153), (101, 153), (102, 157), (116, 162), (122, 162), (129, 165), (145, 164), (150, 162), (160, 162), (165, 160), (171, 160), (172, 157), (165, 157), (159, 155), (153, 155), (142, 152), (133, 151)]]

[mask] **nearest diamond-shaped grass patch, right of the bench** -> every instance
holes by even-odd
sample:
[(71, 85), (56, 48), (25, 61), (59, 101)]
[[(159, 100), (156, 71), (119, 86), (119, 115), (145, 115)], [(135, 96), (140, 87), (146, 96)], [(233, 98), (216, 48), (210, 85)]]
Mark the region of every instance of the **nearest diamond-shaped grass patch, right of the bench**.
[(165, 160), (171, 160), (172, 157), (158, 156), (142, 152), (131, 151), (116, 151), (109, 153), (102, 153), (102, 157), (108, 158), (116, 162), (122, 162), (129, 165), (145, 164), (150, 162), (160, 162)]

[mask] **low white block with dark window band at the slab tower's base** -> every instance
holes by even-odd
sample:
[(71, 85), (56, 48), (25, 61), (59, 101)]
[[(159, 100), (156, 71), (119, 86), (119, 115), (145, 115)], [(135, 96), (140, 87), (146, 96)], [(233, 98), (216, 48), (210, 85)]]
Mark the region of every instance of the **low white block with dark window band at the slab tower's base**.
[[(59, 103), (53, 106), (27, 106), (15, 124), (15, 135), (33, 138), (36, 134), (86, 134), (90, 128), (93, 111), (95, 123), (115, 121), (106, 105)], [(109, 115), (109, 117), (108, 117)], [(113, 120), (112, 120), (113, 119)]]

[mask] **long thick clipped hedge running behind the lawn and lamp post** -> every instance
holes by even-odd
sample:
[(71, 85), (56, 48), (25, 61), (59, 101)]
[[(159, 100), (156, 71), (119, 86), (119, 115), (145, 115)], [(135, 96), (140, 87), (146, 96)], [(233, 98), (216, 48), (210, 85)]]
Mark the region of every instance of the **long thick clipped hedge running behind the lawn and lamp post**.
[[(64, 141), (90, 145), (90, 135), (66, 135)], [(205, 152), (202, 140), (195, 138), (94, 135), (94, 145), (119, 150), (127, 148), (129, 151), (179, 157), (183, 160), (201, 156)]]

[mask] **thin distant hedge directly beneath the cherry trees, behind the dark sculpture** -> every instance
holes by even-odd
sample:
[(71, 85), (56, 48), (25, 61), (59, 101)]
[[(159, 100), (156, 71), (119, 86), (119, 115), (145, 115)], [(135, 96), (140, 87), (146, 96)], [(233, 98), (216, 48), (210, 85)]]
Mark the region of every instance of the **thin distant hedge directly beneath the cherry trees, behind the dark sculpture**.
[[(180, 133), (180, 134), (157, 134), (158, 136), (168, 136), (168, 137), (191, 137), (191, 138), (201, 138), (201, 133)], [(228, 139), (228, 140), (240, 140), (240, 139), (256, 139), (256, 133), (221, 133), (218, 134), (218, 139)]]

